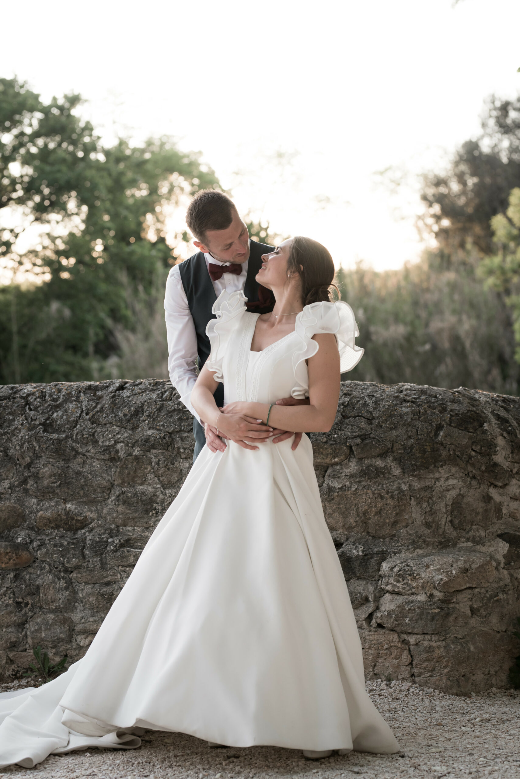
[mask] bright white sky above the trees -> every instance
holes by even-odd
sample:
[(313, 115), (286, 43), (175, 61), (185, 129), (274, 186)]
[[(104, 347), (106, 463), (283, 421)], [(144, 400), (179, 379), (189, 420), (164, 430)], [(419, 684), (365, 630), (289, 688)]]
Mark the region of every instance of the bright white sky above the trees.
[[(0, 73), (82, 93), (106, 139), (177, 136), (242, 213), (378, 270), (418, 256), (416, 176), (520, 89), (518, 0), (1, 4)], [(397, 195), (376, 171), (406, 173)]]

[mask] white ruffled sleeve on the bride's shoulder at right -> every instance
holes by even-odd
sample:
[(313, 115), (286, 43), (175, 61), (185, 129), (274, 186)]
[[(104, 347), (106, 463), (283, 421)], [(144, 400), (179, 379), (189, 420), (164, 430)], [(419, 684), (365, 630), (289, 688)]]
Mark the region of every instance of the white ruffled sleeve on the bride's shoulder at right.
[(308, 397), (309, 377), (305, 360), (318, 351), (318, 344), (312, 340), (314, 335), (333, 333), (336, 336), (341, 373), (351, 371), (363, 357), (364, 349), (355, 344), (360, 333), (354, 312), (343, 300), (334, 303), (319, 301), (306, 305), (296, 318), (295, 330), (300, 337), (300, 349), (293, 354), (293, 371), (297, 380), (297, 385), (291, 392), (293, 397)]

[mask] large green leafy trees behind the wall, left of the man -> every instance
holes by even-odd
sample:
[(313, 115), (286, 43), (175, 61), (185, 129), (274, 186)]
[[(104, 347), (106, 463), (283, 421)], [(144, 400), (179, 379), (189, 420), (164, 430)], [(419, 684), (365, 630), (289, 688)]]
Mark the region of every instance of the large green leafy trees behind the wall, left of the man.
[[(175, 262), (168, 210), (218, 181), (166, 137), (102, 146), (73, 112), (78, 95), (43, 104), (16, 79), (0, 94), (0, 218), (14, 210), (20, 224), (0, 231), (0, 256), (44, 280), (0, 289), (0, 382), (96, 379), (116, 330), (132, 330), (128, 290), (150, 294), (157, 267)], [(39, 243), (19, 256), (28, 228)]]

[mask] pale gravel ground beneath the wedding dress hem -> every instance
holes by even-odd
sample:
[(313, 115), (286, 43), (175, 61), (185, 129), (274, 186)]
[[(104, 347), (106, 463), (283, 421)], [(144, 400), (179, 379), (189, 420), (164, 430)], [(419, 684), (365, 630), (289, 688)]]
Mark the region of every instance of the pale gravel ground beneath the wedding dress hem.
[(146, 731), (140, 749), (51, 755), (36, 768), (10, 767), (0, 777), (30, 770), (34, 779), (354, 779), (356, 774), (520, 779), (520, 691), (462, 698), (404, 682), (371, 682), (367, 689), (399, 740), (399, 755), (352, 753), (313, 761), (293, 749), (209, 749), (181, 733)]

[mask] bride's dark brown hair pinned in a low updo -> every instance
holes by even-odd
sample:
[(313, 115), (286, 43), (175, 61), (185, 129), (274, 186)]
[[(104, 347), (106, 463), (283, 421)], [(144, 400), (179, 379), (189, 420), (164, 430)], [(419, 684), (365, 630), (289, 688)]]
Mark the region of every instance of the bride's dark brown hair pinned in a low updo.
[(333, 284), (335, 268), (330, 252), (312, 238), (303, 238), (301, 235), (293, 238), (287, 272), (300, 276), (304, 305), (321, 300), (331, 301), (333, 289), (341, 298), (338, 287)]

